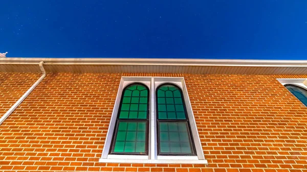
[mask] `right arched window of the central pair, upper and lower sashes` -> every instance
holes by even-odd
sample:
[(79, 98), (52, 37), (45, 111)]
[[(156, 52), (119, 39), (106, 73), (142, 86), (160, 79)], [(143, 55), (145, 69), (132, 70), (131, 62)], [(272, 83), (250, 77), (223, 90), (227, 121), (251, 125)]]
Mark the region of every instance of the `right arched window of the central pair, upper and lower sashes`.
[(163, 84), (156, 97), (158, 155), (196, 155), (182, 90)]

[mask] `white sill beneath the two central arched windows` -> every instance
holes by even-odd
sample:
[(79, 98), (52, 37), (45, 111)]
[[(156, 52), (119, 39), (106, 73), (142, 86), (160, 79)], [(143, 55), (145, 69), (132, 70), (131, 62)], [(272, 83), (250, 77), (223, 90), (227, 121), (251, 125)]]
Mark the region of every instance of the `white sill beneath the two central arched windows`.
[(141, 163), (141, 164), (208, 164), (207, 160), (162, 160), (162, 159), (106, 159), (100, 163)]

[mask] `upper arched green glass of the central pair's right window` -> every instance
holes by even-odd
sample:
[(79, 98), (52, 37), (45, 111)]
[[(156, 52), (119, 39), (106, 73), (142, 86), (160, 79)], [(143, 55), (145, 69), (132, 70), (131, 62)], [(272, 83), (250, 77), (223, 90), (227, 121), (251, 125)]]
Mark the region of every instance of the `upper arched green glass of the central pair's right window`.
[(159, 119), (186, 119), (182, 93), (173, 85), (162, 85), (157, 91)]

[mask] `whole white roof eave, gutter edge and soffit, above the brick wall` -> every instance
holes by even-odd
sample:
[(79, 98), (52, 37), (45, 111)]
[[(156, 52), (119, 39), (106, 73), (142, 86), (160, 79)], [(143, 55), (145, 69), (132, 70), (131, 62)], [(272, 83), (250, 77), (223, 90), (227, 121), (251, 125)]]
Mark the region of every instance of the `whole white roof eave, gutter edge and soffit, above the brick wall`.
[(0, 72), (199, 73), (307, 75), (307, 60), (220, 60), (136, 58), (0, 58)]

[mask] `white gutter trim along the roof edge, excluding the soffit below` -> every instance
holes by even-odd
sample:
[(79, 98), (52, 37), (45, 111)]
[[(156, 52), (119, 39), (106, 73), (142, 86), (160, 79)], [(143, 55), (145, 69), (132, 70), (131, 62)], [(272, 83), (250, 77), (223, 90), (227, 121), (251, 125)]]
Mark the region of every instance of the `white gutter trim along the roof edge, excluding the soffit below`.
[(0, 58), (0, 64), (46, 65), (176, 65), (176, 66), (271, 66), (307, 67), (307, 60), (238, 60), (238, 59), (146, 59), (146, 58)]

